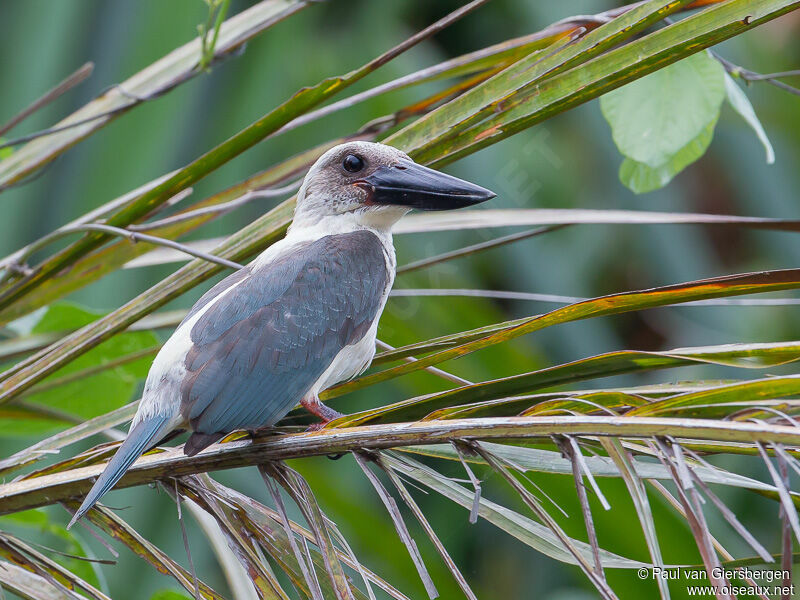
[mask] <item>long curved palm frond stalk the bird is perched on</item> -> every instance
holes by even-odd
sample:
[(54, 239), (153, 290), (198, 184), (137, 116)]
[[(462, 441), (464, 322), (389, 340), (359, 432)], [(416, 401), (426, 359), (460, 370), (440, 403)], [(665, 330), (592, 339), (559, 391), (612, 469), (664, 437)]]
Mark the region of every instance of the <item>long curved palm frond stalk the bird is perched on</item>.
[[(449, 443), (453, 440), (547, 438), (551, 435), (651, 438), (671, 435), (690, 440), (774, 444), (800, 444), (795, 427), (652, 417), (492, 417), (418, 421), (316, 432), (272, 435), (255, 441), (216, 444), (197, 456), (184, 456), (180, 448), (140, 458), (118, 488), (145, 485), (274, 460), (325, 456), (353, 450), (381, 450), (403, 446)], [(105, 465), (22, 479), (0, 485), (0, 514), (54, 504), (85, 494)]]

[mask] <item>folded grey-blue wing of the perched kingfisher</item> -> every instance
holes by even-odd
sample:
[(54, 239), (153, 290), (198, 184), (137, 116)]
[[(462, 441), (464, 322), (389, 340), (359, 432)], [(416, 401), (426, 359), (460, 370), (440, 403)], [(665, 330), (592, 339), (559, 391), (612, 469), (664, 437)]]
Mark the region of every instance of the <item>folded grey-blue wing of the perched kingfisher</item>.
[(192, 429), (255, 429), (282, 418), (342, 348), (364, 337), (388, 277), (380, 240), (358, 231), (308, 243), (222, 286), (233, 289), (195, 322), (185, 358), (181, 413)]

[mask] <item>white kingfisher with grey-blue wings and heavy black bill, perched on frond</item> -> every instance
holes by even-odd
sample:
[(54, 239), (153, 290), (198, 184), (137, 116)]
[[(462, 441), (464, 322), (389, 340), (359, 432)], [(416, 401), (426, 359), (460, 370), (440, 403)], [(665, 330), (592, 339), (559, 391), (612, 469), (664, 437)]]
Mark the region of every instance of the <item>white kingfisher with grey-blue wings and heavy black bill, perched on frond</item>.
[(125, 440), (68, 527), (175, 431), (191, 432), (192, 456), (232, 431), (271, 427), (298, 403), (321, 424), (342, 416), (319, 394), (372, 362), (395, 278), (392, 226), (412, 209), (494, 196), (392, 146), (351, 141), (325, 152), (285, 237), (206, 292), (162, 346)]

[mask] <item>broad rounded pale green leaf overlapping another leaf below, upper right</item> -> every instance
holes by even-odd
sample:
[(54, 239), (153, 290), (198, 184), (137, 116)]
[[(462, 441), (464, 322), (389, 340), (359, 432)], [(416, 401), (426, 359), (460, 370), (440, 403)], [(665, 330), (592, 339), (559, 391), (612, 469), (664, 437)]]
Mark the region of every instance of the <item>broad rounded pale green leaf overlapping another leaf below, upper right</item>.
[(725, 70), (698, 52), (600, 98), (619, 151), (659, 168), (716, 122)]

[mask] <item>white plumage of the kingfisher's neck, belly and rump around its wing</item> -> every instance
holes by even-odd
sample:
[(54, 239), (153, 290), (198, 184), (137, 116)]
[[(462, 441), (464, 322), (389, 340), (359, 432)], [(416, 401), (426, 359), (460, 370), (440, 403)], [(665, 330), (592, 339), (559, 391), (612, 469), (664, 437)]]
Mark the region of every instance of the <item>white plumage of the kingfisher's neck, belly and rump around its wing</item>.
[[(402, 214), (404, 209), (385, 210), (382, 213), (344, 213), (321, 217), (313, 222), (296, 222), (287, 232), (286, 237), (276, 242), (254, 261), (253, 269), (260, 271), (269, 268), (276, 258), (294, 251), (299, 243), (318, 240), (328, 235), (352, 233), (359, 230), (369, 230), (381, 241), (388, 280), (381, 298), (380, 308), (376, 314), (375, 322), (367, 334), (355, 344), (343, 348), (333, 359), (331, 365), (322, 376), (307, 390), (304, 395), (317, 395), (331, 385), (350, 379), (366, 369), (375, 355), (375, 336), (378, 329), (386, 299), (394, 283), (396, 258), (390, 227)], [(184, 359), (192, 346), (191, 331), (200, 317), (210, 310), (214, 304), (230, 294), (240, 283), (238, 282), (219, 294), (206, 304), (188, 321), (183, 323), (167, 340), (156, 355), (150, 372), (147, 375), (142, 401), (133, 418), (131, 428), (137, 423), (153, 416), (166, 416), (169, 421), (162, 427), (162, 434), (171, 431), (183, 424), (180, 414), (181, 395), (180, 387), (186, 375)], [(300, 398), (298, 398), (298, 401)]]

